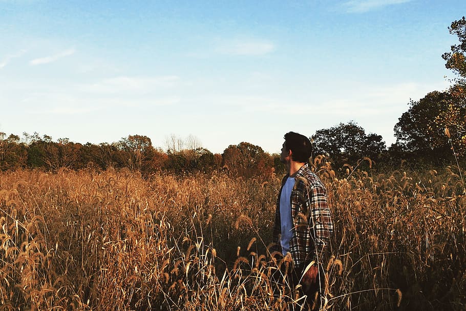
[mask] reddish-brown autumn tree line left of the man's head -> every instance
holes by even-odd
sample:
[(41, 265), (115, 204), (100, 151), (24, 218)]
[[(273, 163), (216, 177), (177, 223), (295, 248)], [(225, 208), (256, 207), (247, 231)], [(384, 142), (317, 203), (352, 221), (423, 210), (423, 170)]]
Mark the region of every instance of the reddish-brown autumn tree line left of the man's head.
[[(172, 137), (173, 138), (173, 137)], [(261, 147), (248, 142), (230, 145), (223, 154), (186, 144), (177, 138), (166, 151), (154, 148), (149, 137), (129, 135), (113, 143), (72, 142), (68, 138), (53, 141), (49, 135), (18, 135), (0, 132), (0, 170), (20, 168), (57, 171), (60, 168), (72, 170), (128, 168), (143, 174), (167, 171), (171, 173), (211, 173), (224, 170), (233, 176), (255, 177), (266, 175), (274, 166), (273, 157)], [(189, 145), (189, 144), (188, 144)]]

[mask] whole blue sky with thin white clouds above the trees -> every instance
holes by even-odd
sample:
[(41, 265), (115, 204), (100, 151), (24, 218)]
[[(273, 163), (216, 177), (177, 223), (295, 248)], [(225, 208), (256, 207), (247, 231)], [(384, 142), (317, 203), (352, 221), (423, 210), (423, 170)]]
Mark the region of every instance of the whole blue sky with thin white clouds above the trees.
[(0, 0), (0, 132), (114, 142), (194, 135), (222, 153), (353, 120), (390, 145), (448, 87), (465, 1)]

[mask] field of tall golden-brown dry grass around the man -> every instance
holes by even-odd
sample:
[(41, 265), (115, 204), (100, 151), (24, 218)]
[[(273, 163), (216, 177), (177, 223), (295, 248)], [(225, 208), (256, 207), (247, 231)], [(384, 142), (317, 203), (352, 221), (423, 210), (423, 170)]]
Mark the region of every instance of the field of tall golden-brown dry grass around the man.
[[(322, 309), (466, 308), (457, 170), (314, 170), (335, 226)], [(0, 173), (0, 310), (299, 308), (268, 252), (281, 177)]]

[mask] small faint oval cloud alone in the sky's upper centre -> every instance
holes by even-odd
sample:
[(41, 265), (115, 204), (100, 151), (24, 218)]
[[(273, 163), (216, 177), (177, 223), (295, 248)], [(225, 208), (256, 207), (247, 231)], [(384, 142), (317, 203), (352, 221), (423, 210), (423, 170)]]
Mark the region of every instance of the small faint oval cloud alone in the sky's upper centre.
[(219, 43), (215, 52), (226, 55), (264, 55), (276, 49), (265, 40), (230, 40)]

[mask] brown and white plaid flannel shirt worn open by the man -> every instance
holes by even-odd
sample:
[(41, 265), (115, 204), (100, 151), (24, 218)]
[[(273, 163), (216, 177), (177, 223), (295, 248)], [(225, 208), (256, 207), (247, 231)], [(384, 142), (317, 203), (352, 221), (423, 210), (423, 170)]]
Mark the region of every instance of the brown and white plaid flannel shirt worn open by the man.
[[(289, 175), (282, 180), (282, 187), (277, 198), (273, 240), (280, 244), (280, 195)], [(333, 232), (333, 221), (327, 204), (327, 191), (322, 181), (304, 164), (296, 172), (295, 183), (291, 191), (291, 217), (293, 219), (292, 238), (290, 240), (291, 258), (296, 266), (303, 266), (312, 260), (322, 262), (321, 256), (325, 245), (329, 243)], [(312, 216), (312, 217), (310, 217)]]

